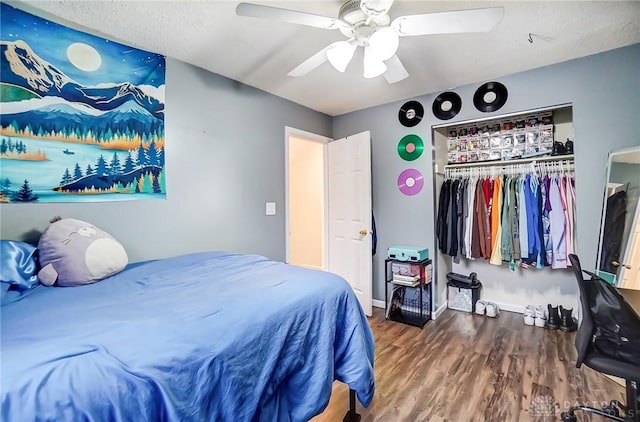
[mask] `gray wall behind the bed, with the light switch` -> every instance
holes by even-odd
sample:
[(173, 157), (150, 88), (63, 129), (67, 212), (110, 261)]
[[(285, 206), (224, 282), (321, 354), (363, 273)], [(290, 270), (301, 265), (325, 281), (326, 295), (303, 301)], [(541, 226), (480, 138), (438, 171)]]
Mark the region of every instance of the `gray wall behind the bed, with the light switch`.
[(331, 117), (171, 59), (165, 104), (166, 200), (4, 204), (1, 238), (32, 239), (60, 215), (111, 233), (132, 262), (210, 249), (284, 260), (285, 126), (330, 136)]

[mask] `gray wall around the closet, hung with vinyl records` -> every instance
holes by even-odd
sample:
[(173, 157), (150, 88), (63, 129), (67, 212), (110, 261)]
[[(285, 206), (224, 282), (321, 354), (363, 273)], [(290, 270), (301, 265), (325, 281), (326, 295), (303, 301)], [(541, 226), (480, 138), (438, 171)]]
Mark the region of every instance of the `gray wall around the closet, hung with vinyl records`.
[[(508, 88), (509, 98), (494, 113), (481, 113), (473, 106), (473, 94), (485, 82), (478, 81), (454, 88), (462, 98), (462, 110), (451, 121), (433, 117), (431, 104), (439, 93), (414, 98), (423, 104), (425, 116), (413, 128), (398, 122), (398, 110), (404, 101), (335, 117), (335, 138), (371, 131), (373, 208), (380, 251), (374, 257), (374, 298), (384, 298), (383, 263), (389, 246), (426, 246), (432, 255), (436, 251), (432, 126), (563, 103), (573, 104), (578, 255), (585, 268), (594, 268), (607, 154), (610, 150), (640, 145), (639, 68), (637, 44), (532, 71), (496, 76), (494, 80)], [(406, 162), (397, 154), (398, 141), (409, 133), (419, 135), (426, 147), (423, 155), (413, 162)], [(425, 178), (425, 189), (413, 197), (402, 195), (396, 184), (398, 174), (408, 167), (419, 169)], [(517, 306), (571, 302), (566, 304), (570, 306), (575, 302), (577, 287), (570, 271), (545, 272), (546, 277), (540, 277), (540, 273), (514, 274), (505, 266), (486, 263), (460, 266), (456, 271), (476, 271), (484, 283), (483, 297), (489, 300), (508, 298)], [(444, 295), (445, 290), (439, 286), (439, 303), (443, 303)]]

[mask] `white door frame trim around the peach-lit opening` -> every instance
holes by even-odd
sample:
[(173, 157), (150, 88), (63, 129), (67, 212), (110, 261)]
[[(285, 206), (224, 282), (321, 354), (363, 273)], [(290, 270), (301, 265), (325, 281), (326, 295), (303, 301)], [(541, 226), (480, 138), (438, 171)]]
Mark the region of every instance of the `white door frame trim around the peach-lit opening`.
[(328, 154), (327, 154), (327, 144), (332, 142), (332, 138), (328, 138), (326, 136), (318, 135), (316, 133), (307, 132), (305, 130), (296, 129), (290, 126), (284, 127), (284, 204), (285, 204), (285, 262), (289, 263), (290, 261), (290, 245), (289, 245), (289, 138), (290, 137), (298, 137), (305, 139), (307, 141), (318, 142), (324, 145), (322, 149), (322, 161), (323, 161), (323, 181), (324, 181), (324, 230), (323, 230), (323, 257), (322, 257), (322, 269), (327, 271), (329, 268), (329, 163), (328, 163)]

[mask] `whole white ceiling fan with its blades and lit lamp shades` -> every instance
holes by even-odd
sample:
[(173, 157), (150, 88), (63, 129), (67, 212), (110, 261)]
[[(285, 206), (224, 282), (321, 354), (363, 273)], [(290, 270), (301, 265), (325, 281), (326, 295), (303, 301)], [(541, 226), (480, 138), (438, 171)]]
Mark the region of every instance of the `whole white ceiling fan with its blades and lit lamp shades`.
[(463, 32), (488, 32), (502, 19), (502, 7), (399, 16), (388, 15), (394, 0), (347, 0), (338, 18), (279, 7), (240, 3), (238, 16), (274, 19), (322, 29), (339, 30), (346, 41), (323, 48), (296, 66), (288, 76), (304, 76), (326, 61), (344, 72), (358, 47), (364, 48), (364, 77), (384, 75), (388, 83), (399, 82), (409, 73), (396, 55), (400, 37)]

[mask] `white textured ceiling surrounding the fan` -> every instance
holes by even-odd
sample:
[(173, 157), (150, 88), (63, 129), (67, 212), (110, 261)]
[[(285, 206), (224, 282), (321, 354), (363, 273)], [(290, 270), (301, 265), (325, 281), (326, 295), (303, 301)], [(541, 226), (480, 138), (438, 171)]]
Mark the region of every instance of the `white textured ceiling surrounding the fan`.
[[(231, 1), (7, 2), (63, 24), (210, 70), (329, 115), (483, 82), (527, 69), (640, 42), (640, 2), (402, 1), (391, 18), (503, 6), (489, 33), (424, 35), (400, 40), (409, 77), (389, 85), (362, 77), (359, 49), (345, 73), (325, 63), (300, 78), (298, 64), (338, 31), (239, 17)], [(340, 1), (254, 2), (337, 17)], [(529, 34), (532, 34), (529, 41)]]

